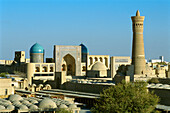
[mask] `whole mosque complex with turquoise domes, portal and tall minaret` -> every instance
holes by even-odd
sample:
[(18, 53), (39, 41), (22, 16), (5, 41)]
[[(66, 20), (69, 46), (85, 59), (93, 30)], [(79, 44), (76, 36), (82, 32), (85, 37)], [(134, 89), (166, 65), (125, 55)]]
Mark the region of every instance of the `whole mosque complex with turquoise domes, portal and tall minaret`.
[(14, 61), (0, 60), (0, 72), (26, 76), (24, 87), (37, 81), (50, 81), (51, 87), (58, 88), (72, 79), (116, 80), (119, 75), (130, 77), (131, 81), (166, 78), (169, 72), (164, 67), (153, 68), (145, 62), (143, 21), (144, 16), (140, 16), (139, 11), (132, 17), (132, 60), (129, 56), (90, 55), (81, 43), (77, 46), (54, 45), (53, 58), (46, 58), (44, 62), (45, 49), (35, 43), (30, 48), (30, 58), (25, 58), (25, 51), (16, 51)]

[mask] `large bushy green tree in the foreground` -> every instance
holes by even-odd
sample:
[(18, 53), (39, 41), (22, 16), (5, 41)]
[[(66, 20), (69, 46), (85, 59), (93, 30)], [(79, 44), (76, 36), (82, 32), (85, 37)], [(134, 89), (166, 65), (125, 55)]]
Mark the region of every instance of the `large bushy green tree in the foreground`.
[(145, 82), (124, 81), (111, 86), (100, 94), (91, 109), (93, 113), (150, 113), (153, 112), (159, 98), (149, 92)]

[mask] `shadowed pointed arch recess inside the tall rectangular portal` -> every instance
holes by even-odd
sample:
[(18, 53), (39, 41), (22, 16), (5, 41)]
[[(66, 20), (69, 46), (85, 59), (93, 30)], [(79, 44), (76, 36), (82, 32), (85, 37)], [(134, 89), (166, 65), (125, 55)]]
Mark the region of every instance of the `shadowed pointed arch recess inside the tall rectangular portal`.
[[(75, 76), (76, 64), (75, 64), (74, 57), (70, 54), (67, 54), (66, 56), (63, 57), (63, 63), (66, 64), (66, 68), (65, 68), (66, 74)], [(62, 68), (63, 68), (63, 64), (62, 64)]]

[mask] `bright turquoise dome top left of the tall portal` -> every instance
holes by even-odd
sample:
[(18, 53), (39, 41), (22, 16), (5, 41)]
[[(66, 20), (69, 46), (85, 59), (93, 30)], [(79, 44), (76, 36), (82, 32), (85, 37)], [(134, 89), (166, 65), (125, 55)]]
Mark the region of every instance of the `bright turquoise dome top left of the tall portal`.
[(30, 49), (30, 53), (44, 53), (44, 48), (38, 44), (38, 43), (35, 43), (31, 49)]

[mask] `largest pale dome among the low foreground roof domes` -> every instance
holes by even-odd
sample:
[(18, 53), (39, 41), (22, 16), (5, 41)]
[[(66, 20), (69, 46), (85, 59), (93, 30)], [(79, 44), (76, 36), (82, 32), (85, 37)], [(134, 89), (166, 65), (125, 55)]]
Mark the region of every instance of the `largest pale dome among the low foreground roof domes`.
[(48, 109), (48, 108), (57, 108), (57, 105), (50, 98), (45, 98), (39, 103), (39, 108)]

